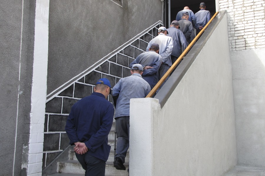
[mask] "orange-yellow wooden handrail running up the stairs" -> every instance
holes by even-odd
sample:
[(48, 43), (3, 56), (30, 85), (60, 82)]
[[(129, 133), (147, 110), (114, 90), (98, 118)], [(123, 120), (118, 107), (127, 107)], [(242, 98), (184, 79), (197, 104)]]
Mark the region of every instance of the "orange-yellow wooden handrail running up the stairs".
[(210, 23), (213, 21), (213, 19), (216, 17), (216, 15), (219, 12), (217, 11), (213, 17), (210, 19), (210, 21), (204, 26), (204, 28), (196, 35), (196, 37), (192, 40), (192, 42), (188, 45), (188, 47), (183, 51), (183, 53), (178, 57), (178, 59), (173, 63), (173, 65), (168, 69), (168, 71), (165, 73), (165, 75), (158, 81), (158, 83), (155, 85), (155, 87), (149, 92), (149, 94), (145, 98), (152, 97), (157, 89), (162, 85), (162, 83), (165, 81), (165, 79), (170, 75), (170, 73), (174, 70), (174, 68), (178, 65), (180, 60), (188, 53), (188, 51), (191, 49), (191, 47), (194, 45), (194, 43), (198, 40), (198, 38), (202, 35), (202, 33), (205, 31), (205, 29), (210, 25)]

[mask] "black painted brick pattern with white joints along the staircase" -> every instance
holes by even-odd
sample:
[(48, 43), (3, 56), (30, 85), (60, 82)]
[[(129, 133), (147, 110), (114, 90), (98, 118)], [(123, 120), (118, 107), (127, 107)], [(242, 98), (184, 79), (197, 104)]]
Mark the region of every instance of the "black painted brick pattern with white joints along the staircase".
[[(148, 42), (157, 35), (160, 26), (162, 25), (158, 24), (129, 45), (124, 46), (46, 103), (42, 168), (51, 163), (69, 145), (64, 127), (72, 105), (92, 94), (98, 79), (109, 79), (113, 87), (121, 78), (130, 76), (129, 64), (139, 54), (145, 52)], [(108, 100), (112, 102), (112, 97), (109, 96)]]

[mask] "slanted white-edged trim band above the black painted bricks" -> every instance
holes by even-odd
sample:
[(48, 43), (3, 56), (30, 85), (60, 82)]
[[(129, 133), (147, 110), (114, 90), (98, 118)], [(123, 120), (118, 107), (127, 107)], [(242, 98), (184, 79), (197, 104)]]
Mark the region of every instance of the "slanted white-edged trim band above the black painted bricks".
[[(77, 80), (81, 79), (83, 76), (89, 74), (90, 72), (94, 71), (95, 68), (97, 68), (98, 66), (100, 66), (102, 63), (104, 63), (106, 60), (108, 60), (109, 58), (113, 57), (114, 55), (116, 55), (118, 52), (120, 52), (121, 50), (123, 50), (124, 48), (126, 48), (127, 46), (129, 46), (132, 42), (134, 42), (135, 40), (137, 40), (138, 38), (140, 38), (140, 36), (142, 36), (144, 33), (148, 32), (148, 30), (150, 30), (150, 28), (154, 28), (155, 26), (157, 26), (159, 23), (162, 23), (162, 21), (158, 21), (156, 23), (154, 23), (153, 25), (151, 25), (150, 27), (146, 28), (145, 30), (143, 30), (141, 33), (139, 33), (138, 35), (136, 35), (135, 37), (131, 38), (130, 40), (128, 40), (127, 42), (125, 42), (123, 45), (121, 45), (119, 48), (117, 48), (116, 50), (113, 50), (112, 52), (110, 52), (108, 55), (106, 55), (105, 57), (103, 57), (102, 59), (100, 59), (99, 61), (95, 62), (93, 65), (91, 65), (90, 67), (88, 67), (86, 70), (84, 70), (83, 72), (81, 72), (80, 74), (76, 75), (75, 77), (73, 77), (72, 79), (70, 79), (69, 81), (65, 82), (64, 84), (62, 84), (60, 87), (58, 87), (57, 89), (55, 89), (54, 91), (52, 91), (51, 93), (49, 93), (47, 95), (47, 100), (46, 103), (48, 101), (50, 101), (51, 99), (53, 99), (54, 97), (56, 97), (59, 93), (61, 93), (63, 90), (65, 90), (66, 88), (63, 88), (65, 85), (67, 84), (73, 84), (74, 82), (76, 82)], [(121, 53), (120, 53), (121, 54)], [(94, 69), (92, 69), (94, 67)], [(92, 70), (90, 70), (92, 69)], [(88, 71), (90, 70), (90, 71)], [(61, 90), (60, 90), (61, 89)], [(59, 91), (59, 92), (57, 92)], [(52, 95), (54, 94), (54, 95)], [(51, 96), (51, 97), (49, 97)], [(49, 98), (48, 98), (49, 97)]]

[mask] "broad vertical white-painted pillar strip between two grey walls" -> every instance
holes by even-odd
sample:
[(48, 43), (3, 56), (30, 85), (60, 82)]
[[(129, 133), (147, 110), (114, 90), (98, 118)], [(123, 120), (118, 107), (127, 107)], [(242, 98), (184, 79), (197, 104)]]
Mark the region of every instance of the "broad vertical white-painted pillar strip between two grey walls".
[[(47, 92), (49, 0), (36, 0), (34, 34), (29, 152), (26, 153), (28, 155), (43, 153), (44, 139), (38, 139), (36, 142), (33, 136), (44, 133), (44, 128), (42, 128), (42, 126), (44, 127), (45, 121), (45, 101)], [(42, 173), (42, 157), (36, 158), (28, 158), (28, 163), (23, 164), (24, 167), (27, 167), (27, 175), (39, 175)]]

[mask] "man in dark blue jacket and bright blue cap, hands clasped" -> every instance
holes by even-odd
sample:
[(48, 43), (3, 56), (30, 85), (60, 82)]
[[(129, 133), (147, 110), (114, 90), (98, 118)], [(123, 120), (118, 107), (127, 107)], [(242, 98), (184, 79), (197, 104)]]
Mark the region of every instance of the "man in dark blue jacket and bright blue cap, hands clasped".
[(77, 160), (86, 170), (86, 176), (105, 176), (110, 154), (108, 134), (114, 116), (113, 105), (107, 100), (110, 87), (107, 78), (99, 79), (94, 92), (72, 106), (66, 122), (70, 145), (75, 145)]

